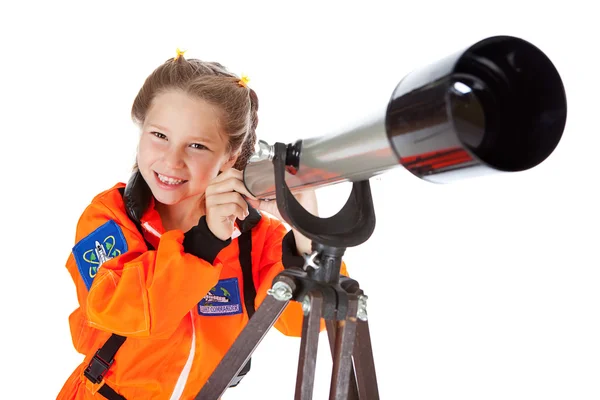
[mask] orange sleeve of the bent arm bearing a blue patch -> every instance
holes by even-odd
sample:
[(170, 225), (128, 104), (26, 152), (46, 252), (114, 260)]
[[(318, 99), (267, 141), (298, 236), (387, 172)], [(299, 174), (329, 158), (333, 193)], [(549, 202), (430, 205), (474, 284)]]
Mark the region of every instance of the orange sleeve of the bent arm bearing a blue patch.
[(168, 231), (149, 251), (124, 210), (89, 205), (67, 262), (89, 326), (130, 337), (172, 333), (222, 269), (218, 257), (210, 264), (185, 253), (183, 238)]

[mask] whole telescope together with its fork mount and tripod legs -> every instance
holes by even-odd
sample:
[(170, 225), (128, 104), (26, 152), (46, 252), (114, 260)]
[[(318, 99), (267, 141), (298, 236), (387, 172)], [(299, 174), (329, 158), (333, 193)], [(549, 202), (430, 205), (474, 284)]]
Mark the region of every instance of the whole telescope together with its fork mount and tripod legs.
[[(304, 311), (294, 398), (312, 399), (325, 320), (333, 359), (329, 399), (379, 399), (367, 296), (340, 275), (346, 248), (364, 243), (375, 227), (369, 179), (399, 166), (435, 183), (524, 171), (555, 150), (566, 115), (563, 83), (548, 57), (523, 39), (494, 36), (409, 73), (386, 107), (350, 129), (287, 144), (260, 141), (244, 184), (254, 196), (277, 201), (282, 218), (311, 239), (312, 253), (273, 279), (196, 400), (217, 399), (239, 383), (290, 301)], [(328, 218), (294, 197), (348, 181), (346, 204)]]

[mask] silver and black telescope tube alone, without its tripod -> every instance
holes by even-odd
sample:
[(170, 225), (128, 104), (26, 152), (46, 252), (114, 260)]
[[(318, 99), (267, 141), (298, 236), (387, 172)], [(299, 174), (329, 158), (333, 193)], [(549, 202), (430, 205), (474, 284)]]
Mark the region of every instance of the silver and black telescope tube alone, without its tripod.
[[(289, 143), (285, 181), (298, 192), (398, 166), (435, 183), (524, 171), (554, 151), (566, 110), (559, 73), (540, 49), (490, 37), (409, 73), (387, 107), (356, 126)], [(275, 197), (273, 154), (259, 141), (244, 169), (258, 198)]]

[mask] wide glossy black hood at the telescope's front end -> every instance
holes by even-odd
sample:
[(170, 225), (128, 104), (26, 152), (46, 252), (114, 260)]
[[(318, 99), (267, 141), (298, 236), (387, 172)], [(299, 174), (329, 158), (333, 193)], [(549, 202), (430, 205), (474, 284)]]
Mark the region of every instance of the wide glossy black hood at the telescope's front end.
[(560, 142), (566, 117), (550, 59), (523, 39), (494, 36), (405, 76), (385, 125), (399, 163), (424, 178), (535, 167)]

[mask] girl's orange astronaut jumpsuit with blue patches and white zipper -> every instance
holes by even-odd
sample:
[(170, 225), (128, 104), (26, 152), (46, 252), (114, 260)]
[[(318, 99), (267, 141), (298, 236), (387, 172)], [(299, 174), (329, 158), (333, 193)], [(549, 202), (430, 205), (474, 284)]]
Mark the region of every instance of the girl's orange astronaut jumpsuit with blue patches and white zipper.
[[(128, 400), (193, 399), (248, 322), (237, 240), (212, 263), (186, 253), (184, 233), (165, 232), (153, 201), (141, 218), (142, 236), (126, 213), (118, 190), (124, 186), (97, 195), (77, 225), (66, 267), (79, 307), (69, 325), (85, 359), (58, 400), (103, 399), (93, 395), (99, 385), (83, 371), (112, 333), (127, 340), (105, 375), (107, 385)], [(284, 269), (286, 233), (264, 214), (252, 229), (256, 309)], [(148, 250), (144, 239), (156, 250)], [(346, 275), (344, 265), (341, 272)], [(274, 327), (300, 336), (302, 320), (301, 305), (292, 301)]]

